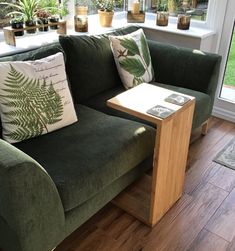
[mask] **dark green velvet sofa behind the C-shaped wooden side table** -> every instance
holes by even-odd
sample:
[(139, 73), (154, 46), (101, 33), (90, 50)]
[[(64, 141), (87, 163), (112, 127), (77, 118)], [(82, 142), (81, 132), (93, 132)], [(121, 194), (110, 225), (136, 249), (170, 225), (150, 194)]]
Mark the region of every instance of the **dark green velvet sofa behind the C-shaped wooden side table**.
[[(193, 128), (199, 127), (211, 116), (220, 56), (148, 43), (153, 84), (195, 96)], [(106, 105), (124, 91), (107, 34), (60, 37), (59, 43), (0, 61), (35, 60), (58, 51), (65, 56), (78, 122), (14, 145), (0, 139), (4, 251), (52, 250), (151, 167), (154, 126)]]

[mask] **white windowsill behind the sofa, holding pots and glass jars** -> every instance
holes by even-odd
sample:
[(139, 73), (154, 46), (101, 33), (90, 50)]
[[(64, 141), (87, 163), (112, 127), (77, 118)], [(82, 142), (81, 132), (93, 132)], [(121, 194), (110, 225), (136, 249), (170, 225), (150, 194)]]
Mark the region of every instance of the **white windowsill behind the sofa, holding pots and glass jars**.
[[(131, 23), (127, 23), (126, 21), (126, 13), (125, 12), (118, 12), (115, 13), (114, 20), (113, 20), (113, 26), (110, 28), (103, 28), (98, 23), (98, 15), (90, 15), (89, 16), (89, 32), (87, 33), (78, 33), (75, 32), (73, 27), (68, 28), (68, 34), (76, 34), (76, 35), (83, 35), (83, 34), (101, 34), (108, 32), (115, 28), (120, 28), (123, 26), (131, 25)], [(198, 22), (192, 21), (191, 27), (189, 30), (183, 31), (178, 30), (176, 28), (177, 20), (176, 18), (170, 18), (169, 24), (166, 27), (161, 27), (156, 25), (156, 14), (152, 13), (146, 13), (145, 23), (139, 23), (137, 25), (148, 28), (156, 31), (161, 32), (168, 32), (168, 33), (174, 33), (177, 35), (182, 36), (190, 36), (194, 38), (206, 38), (210, 35), (215, 34), (214, 31), (206, 29), (206, 28), (199, 28), (196, 27)], [(7, 56), (14, 53), (19, 53), (22, 51), (26, 51), (29, 49), (40, 47), (44, 44), (48, 44), (54, 41), (58, 41), (58, 34), (55, 31), (46, 32), (46, 33), (36, 33), (33, 35), (24, 35), (22, 37), (16, 37), (16, 47), (7, 45), (5, 42), (0, 42), (0, 56)]]

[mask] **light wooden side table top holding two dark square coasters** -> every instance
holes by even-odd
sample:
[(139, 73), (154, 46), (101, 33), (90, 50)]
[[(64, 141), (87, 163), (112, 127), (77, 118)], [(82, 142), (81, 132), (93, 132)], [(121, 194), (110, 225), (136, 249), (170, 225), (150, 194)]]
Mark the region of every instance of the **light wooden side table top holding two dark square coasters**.
[[(172, 94), (187, 97), (189, 101), (184, 105), (176, 105), (165, 101)], [(192, 96), (143, 83), (109, 99), (107, 105), (155, 124), (161, 124), (162, 121), (171, 119), (194, 102), (195, 98)], [(149, 109), (158, 105), (173, 110), (173, 113), (166, 118), (160, 118), (147, 113)]]

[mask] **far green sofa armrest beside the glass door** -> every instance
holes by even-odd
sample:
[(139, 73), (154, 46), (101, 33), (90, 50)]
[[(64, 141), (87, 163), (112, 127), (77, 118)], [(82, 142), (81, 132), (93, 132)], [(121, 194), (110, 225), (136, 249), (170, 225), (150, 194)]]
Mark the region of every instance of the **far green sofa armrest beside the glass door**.
[(211, 96), (218, 83), (221, 56), (148, 41), (155, 81), (200, 91)]

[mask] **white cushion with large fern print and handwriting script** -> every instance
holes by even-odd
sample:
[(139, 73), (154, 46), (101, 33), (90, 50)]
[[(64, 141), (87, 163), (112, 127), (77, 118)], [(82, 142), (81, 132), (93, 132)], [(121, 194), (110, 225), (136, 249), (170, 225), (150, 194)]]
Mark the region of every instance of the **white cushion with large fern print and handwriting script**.
[(77, 121), (61, 52), (0, 63), (3, 139), (16, 143)]

